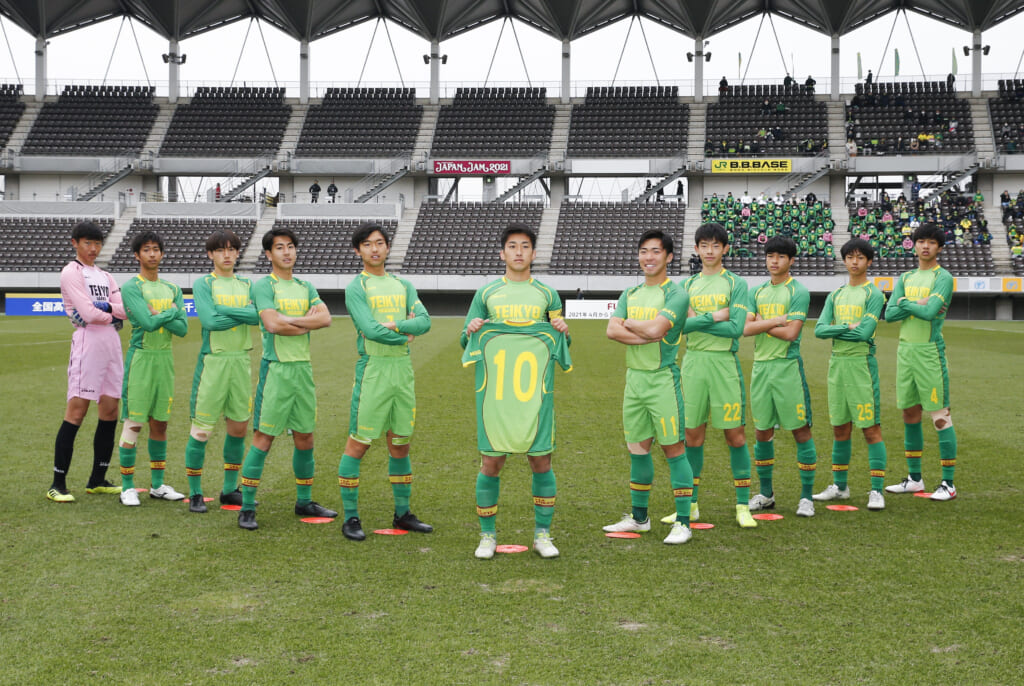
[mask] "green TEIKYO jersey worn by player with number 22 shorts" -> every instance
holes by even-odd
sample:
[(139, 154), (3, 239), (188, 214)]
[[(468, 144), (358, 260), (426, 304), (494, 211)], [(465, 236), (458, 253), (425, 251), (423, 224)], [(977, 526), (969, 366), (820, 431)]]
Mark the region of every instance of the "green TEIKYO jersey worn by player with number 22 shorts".
[[(722, 268), (717, 274), (696, 273), (681, 284), (689, 295), (689, 308), (696, 316), (686, 319), (683, 333), (686, 334), (687, 350), (714, 350), (735, 352), (739, 349), (739, 337), (743, 335), (746, 323), (748, 293), (746, 282)], [(715, 321), (712, 314), (723, 307), (729, 308), (729, 318)]]

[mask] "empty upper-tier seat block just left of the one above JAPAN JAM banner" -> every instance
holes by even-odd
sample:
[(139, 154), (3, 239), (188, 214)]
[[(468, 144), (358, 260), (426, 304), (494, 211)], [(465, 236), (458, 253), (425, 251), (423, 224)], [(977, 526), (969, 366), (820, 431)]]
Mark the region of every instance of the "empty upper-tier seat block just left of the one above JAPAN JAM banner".
[(412, 153), (423, 106), (415, 88), (329, 88), (310, 105), (296, 157), (394, 157)]

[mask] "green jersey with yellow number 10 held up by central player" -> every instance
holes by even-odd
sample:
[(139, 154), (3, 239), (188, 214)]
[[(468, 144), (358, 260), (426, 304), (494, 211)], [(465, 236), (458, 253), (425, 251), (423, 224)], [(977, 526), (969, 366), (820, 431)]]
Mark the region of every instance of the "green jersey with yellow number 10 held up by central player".
[(554, 445), (554, 367), (572, 369), (568, 338), (548, 323), (487, 323), (467, 340), (476, 365), (477, 443), (483, 452), (543, 454)]

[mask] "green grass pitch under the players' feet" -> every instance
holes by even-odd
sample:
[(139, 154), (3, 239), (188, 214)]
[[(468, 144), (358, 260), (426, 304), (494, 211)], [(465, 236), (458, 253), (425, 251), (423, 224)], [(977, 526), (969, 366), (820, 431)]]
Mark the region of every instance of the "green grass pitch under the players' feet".
[[(307, 525), (292, 513), (291, 447), (281, 437), (259, 491), (260, 529), (234, 513), (205, 515), (142, 497), (128, 509), (88, 496), (95, 410), (79, 434), (70, 506), (44, 499), (65, 403), (70, 328), (62, 319), (0, 317), (3, 459), (0, 482), (0, 682), (10, 684), (779, 684), (969, 683), (1021, 679), (1024, 530), (1018, 485), (1024, 326), (948, 323), (956, 485), (946, 504), (889, 496), (864, 509), (866, 448), (854, 436), (857, 512), (817, 504), (798, 519), (791, 436), (776, 438), (776, 512), (739, 529), (721, 435), (709, 432), (700, 512), (715, 528), (686, 546), (655, 524), (614, 541), (600, 526), (629, 509), (621, 434), (623, 346), (603, 321), (570, 323), (574, 371), (556, 372), (562, 556), (472, 557), (477, 457), (472, 372), (459, 362), (460, 320), (438, 318), (415, 343), (418, 424), (413, 510), (429, 535), (371, 535), (356, 544), (340, 520)], [(804, 356), (818, 447), (816, 490), (829, 480), (824, 372), (828, 345), (805, 328)], [(905, 475), (895, 408), (897, 328), (883, 325), (879, 361), (887, 483)], [(335, 474), (348, 423), (355, 359), (347, 319), (313, 334), (319, 419), (314, 498), (340, 510)], [(198, 323), (177, 342), (167, 480), (179, 490)], [(742, 357), (750, 370), (750, 340)], [(257, 346), (258, 350), (258, 346)], [(204, 483), (221, 484), (222, 428)], [(753, 442), (753, 430), (748, 431)], [(925, 479), (939, 478), (925, 430)], [(142, 443), (144, 445), (144, 442)], [(389, 526), (384, 451), (364, 461), (360, 515)], [(117, 479), (115, 467), (111, 470)], [(147, 484), (144, 449), (139, 485)], [(755, 477), (755, 488), (757, 479)], [(215, 505), (215, 504), (211, 504)], [(528, 468), (502, 479), (499, 543), (528, 545)], [(651, 514), (672, 510), (655, 454)]]

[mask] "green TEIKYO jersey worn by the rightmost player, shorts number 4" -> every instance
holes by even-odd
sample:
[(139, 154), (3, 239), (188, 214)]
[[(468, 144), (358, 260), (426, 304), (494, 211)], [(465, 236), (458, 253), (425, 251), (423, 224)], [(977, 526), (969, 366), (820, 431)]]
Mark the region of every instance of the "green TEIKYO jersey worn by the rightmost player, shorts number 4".
[[(899, 328), (901, 343), (943, 344), (942, 325), (952, 294), (952, 274), (938, 265), (927, 271), (905, 271), (896, 281), (886, 308), (886, 321), (903, 323)], [(928, 303), (919, 304), (924, 298)]]

